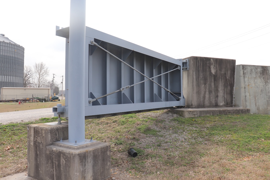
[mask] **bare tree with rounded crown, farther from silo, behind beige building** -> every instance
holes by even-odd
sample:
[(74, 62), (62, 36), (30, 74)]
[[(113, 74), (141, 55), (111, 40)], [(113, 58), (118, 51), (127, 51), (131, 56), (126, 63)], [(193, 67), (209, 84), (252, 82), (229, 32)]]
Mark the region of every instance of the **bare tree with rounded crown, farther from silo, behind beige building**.
[(48, 86), (47, 85), (48, 82), (47, 77), (49, 75), (48, 67), (43, 62), (35, 63), (34, 71), (35, 71), (34, 85), (37, 88), (43, 88)]

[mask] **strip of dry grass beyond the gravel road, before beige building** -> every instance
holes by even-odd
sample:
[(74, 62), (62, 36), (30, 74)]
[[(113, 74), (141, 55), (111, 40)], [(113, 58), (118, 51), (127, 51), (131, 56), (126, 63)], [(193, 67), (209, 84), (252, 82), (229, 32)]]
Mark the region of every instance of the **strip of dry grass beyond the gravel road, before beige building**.
[(24, 111), (31, 109), (42, 109), (52, 108), (57, 104), (65, 105), (65, 99), (54, 102), (26, 102), (19, 104), (18, 102), (0, 102), (0, 113), (1, 112), (12, 112), (12, 111)]

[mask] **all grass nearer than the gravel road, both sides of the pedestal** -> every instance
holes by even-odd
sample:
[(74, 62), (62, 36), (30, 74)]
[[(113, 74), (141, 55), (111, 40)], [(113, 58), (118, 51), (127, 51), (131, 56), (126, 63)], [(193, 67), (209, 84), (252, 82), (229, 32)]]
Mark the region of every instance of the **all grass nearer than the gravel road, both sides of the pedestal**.
[[(112, 168), (134, 179), (270, 179), (269, 115), (166, 115), (88, 119), (86, 138), (110, 143)], [(57, 118), (0, 126), (0, 177), (26, 171), (26, 125), (45, 121)]]

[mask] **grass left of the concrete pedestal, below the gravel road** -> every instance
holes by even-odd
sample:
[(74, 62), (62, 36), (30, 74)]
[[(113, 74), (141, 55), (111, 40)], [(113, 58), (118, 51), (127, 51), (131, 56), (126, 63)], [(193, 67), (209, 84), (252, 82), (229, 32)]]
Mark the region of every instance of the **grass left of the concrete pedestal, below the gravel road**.
[(27, 125), (55, 122), (58, 117), (0, 126), (0, 178), (27, 171)]

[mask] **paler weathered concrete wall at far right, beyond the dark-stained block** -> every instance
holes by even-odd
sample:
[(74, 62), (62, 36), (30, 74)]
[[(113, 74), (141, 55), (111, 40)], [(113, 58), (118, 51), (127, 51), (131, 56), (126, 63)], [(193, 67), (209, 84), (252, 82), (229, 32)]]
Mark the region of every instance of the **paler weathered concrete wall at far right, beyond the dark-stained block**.
[(270, 114), (270, 66), (236, 65), (234, 105)]

